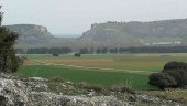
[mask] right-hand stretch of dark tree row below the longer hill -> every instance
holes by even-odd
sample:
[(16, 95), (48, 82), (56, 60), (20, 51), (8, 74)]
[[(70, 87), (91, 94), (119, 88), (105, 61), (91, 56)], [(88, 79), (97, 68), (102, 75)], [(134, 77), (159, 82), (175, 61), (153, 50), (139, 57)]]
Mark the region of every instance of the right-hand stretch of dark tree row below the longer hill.
[(80, 49), (81, 54), (106, 54), (106, 53), (187, 53), (187, 46), (136, 46), (136, 47), (98, 47)]

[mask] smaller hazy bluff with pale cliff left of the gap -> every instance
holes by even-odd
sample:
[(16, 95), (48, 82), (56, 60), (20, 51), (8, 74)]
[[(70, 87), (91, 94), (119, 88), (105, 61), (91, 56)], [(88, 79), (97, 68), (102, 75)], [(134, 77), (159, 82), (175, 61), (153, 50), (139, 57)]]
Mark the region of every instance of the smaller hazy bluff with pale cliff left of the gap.
[(53, 35), (45, 26), (35, 24), (6, 25), (11, 31), (19, 33), (18, 45), (45, 45), (53, 42)]

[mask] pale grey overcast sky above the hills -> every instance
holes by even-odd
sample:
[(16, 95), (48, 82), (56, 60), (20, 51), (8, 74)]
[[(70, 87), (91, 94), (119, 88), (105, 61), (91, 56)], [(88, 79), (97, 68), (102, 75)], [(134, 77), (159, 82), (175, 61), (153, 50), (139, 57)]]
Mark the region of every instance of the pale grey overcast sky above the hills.
[(187, 18), (187, 0), (0, 0), (3, 24), (32, 23), (81, 34), (91, 23)]

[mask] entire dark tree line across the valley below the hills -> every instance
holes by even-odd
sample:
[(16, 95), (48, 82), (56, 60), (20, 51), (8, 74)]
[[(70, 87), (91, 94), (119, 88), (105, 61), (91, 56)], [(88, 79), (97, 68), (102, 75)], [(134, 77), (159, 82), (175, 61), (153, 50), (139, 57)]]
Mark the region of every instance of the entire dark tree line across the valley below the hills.
[[(37, 47), (16, 49), (16, 53), (22, 54), (68, 54), (73, 53), (70, 47)], [(106, 53), (187, 53), (187, 46), (133, 46), (133, 47), (82, 47), (76, 51), (80, 54), (106, 54)]]

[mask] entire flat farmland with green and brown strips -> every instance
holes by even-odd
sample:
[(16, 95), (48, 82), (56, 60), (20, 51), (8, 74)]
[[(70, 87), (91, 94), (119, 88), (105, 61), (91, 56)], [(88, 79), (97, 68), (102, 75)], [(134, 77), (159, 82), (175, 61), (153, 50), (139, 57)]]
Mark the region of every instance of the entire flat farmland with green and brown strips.
[(87, 54), (81, 57), (66, 54), (59, 57), (29, 55), (18, 74), (29, 77), (61, 77), (81, 83), (129, 85), (136, 89), (152, 89), (151, 73), (161, 71), (169, 61), (187, 62), (186, 54)]

